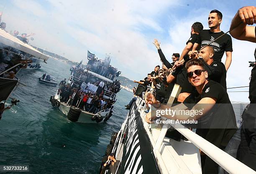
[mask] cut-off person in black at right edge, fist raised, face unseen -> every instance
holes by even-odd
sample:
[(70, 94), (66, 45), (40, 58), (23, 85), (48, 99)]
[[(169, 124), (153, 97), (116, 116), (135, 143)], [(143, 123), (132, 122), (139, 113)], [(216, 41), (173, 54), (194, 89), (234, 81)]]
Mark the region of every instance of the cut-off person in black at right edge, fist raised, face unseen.
[[(256, 27), (248, 26), (254, 23), (256, 23), (256, 7), (240, 8), (230, 25), (230, 29), (234, 28), (230, 31), (230, 35), (239, 40), (256, 43)], [(237, 159), (256, 171), (256, 66), (251, 70), (249, 98), (250, 105), (242, 115), (241, 144), (238, 148)]]

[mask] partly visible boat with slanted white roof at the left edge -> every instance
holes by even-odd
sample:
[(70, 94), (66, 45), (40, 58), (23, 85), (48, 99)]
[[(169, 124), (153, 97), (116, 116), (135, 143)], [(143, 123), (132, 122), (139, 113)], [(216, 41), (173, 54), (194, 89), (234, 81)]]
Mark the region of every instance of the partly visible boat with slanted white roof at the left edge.
[(16, 76), (12, 79), (3, 78), (4, 73), (13, 71), (17, 74), (21, 68), (27, 68), (26, 64), (31, 61), (32, 57), (44, 62), (49, 58), (49, 56), (2, 29), (0, 29), (0, 54), (4, 58), (4, 61), (0, 63), (2, 63), (2, 67), (5, 67), (0, 70), (0, 101), (6, 101), (18, 84), (22, 84)]

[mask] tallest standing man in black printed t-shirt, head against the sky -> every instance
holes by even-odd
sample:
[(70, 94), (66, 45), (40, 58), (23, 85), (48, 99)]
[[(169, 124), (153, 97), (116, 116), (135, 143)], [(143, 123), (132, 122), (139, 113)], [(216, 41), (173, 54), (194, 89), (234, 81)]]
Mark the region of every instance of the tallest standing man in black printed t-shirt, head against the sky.
[[(220, 23), (222, 22), (222, 13), (218, 10), (212, 10), (208, 17), (208, 25), (210, 30), (202, 30), (195, 41), (193, 50), (199, 50), (201, 47), (209, 44), (213, 40), (216, 40), (220, 35), (223, 35), (224, 32), (220, 30)], [(201, 45), (200, 47), (198, 47)], [(214, 49), (215, 61), (221, 61), (224, 52), (226, 52), (226, 61), (225, 68), (228, 71), (228, 68), (232, 61), (232, 39), (230, 35), (225, 34), (215, 42), (211, 43), (210, 46)]]

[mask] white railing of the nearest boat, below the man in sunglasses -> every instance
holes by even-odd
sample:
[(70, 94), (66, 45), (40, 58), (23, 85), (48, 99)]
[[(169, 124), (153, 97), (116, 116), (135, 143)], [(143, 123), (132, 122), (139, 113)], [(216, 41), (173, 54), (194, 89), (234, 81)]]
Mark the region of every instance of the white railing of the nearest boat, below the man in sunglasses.
[[(176, 86), (176, 89), (174, 89), (173, 93), (171, 94), (171, 98), (169, 99), (169, 102), (172, 103), (175, 96), (177, 96), (177, 93), (179, 93), (179, 90), (180, 88), (177, 88)], [(245, 164), (241, 163), (237, 159), (233, 158), (229, 154), (225, 153), (223, 150), (211, 144), (209, 141), (203, 139), (201, 136), (195, 134), (193, 131), (190, 131), (189, 129), (184, 127), (182, 124), (175, 123), (175, 122), (173, 124), (168, 123), (161, 126), (162, 127), (160, 129), (161, 131), (159, 130), (159, 128), (157, 128), (158, 130), (156, 130), (155, 129), (156, 127), (154, 127), (156, 125), (150, 125), (145, 121), (146, 113), (145, 113), (144, 107), (142, 106), (142, 105), (145, 105), (145, 101), (142, 98), (138, 98), (136, 103), (138, 105), (138, 111), (141, 113), (143, 127), (151, 141), (154, 155), (156, 157), (157, 164), (162, 174), (195, 174), (195, 173), (201, 172), (201, 171), (198, 171), (198, 169), (192, 171), (191, 170), (192, 167), (191, 166), (189, 167), (189, 163), (193, 161), (182, 161), (181, 159), (181, 157), (186, 155), (186, 152), (184, 152), (183, 156), (179, 155), (175, 147), (173, 146), (173, 144), (171, 144), (172, 140), (165, 137), (167, 129), (170, 126), (174, 127), (177, 131), (179, 131), (179, 133), (185, 136), (197, 148), (201, 149), (207, 156), (209, 156), (213, 161), (219, 164), (228, 173), (256, 174), (256, 171), (249, 168)], [(158, 134), (156, 134), (157, 131), (158, 131)], [(169, 143), (168, 142), (166, 143), (167, 139), (169, 139), (170, 141)], [(198, 150), (197, 156), (199, 159), (198, 159), (198, 162), (196, 163), (200, 163), (199, 149), (197, 149)], [(188, 149), (182, 149), (182, 150), (186, 151)], [(165, 154), (166, 152), (168, 152), (169, 154)]]

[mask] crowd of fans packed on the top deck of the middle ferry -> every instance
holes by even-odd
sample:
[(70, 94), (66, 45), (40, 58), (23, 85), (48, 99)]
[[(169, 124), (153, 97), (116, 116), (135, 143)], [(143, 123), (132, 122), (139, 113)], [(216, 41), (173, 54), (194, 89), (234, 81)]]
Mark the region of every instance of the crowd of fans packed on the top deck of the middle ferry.
[(118, 77), (121, 73), (121, 71), (118, 71), (117, 68), (114, 68), (108, 63), (105, 63), (104, 60), (101, 60), (98, 58), (87, 58), (87, 59), (88, 59), (88, 63), (86, 68), (92, 72), (100, 74), (101, 76), (104, 76), (106, 78), (113, 80), (115, 77)]

